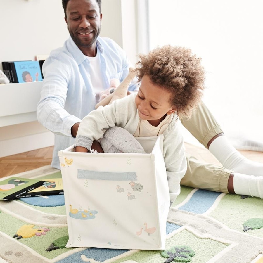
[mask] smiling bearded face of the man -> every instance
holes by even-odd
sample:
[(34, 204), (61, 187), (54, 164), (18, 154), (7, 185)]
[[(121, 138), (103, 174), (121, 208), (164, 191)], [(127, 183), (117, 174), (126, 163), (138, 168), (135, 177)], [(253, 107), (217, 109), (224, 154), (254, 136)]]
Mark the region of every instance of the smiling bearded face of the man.
[(70, 0), (66, 14), (68, 31), (79, 49), (95, 48), (102, 18), (97, 2), (95, 0)]

